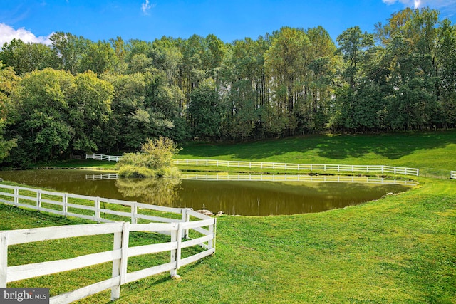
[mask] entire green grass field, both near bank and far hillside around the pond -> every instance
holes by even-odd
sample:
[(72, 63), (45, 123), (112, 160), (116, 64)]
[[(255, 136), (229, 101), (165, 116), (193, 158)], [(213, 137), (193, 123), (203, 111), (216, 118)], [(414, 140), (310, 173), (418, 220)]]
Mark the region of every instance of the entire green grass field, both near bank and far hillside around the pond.
[[(180, 158), (454, 170), (456, 132), (193, 145)], [(214, 256), (181, 268), (180, 279), (165, 273), (123, 285), (115, 303), (456, 303), (456, 180), (417, 180), (420, 185), (408, 192), (320, 214), (221, 216)], [(0, 216), (0, 229), (81, 222), (1, 205)], [(86, 242), (87, 250), (106, 243)], [(18, 251), (11, 261), (18, 261)], [(55, 293), (92, 283), (94, 273), (28, 284)], [(105, 292), (81, 303), (109, 298)]]

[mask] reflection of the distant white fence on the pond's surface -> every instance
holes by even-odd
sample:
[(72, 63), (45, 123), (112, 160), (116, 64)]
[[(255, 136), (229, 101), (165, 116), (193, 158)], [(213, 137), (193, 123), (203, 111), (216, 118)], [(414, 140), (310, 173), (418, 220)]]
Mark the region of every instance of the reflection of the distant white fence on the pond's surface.
[[(250, 181), (250, 182), (346, 182), (346, 183), (367, 183), (367, 184), (403, 184), (415, 186), (418, 182), (385, 179), (375, 177), (348, 177), (348, 176), (308, 176), (291, 174), (206, 174), (188, 173), (182, 174), (182, 179), (204, 180), (204, 181)], [(88, 180), (118, 179), (117, 174), (95, 174), (86, 175)]]

